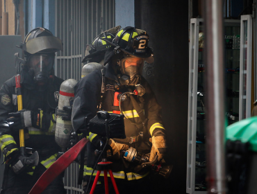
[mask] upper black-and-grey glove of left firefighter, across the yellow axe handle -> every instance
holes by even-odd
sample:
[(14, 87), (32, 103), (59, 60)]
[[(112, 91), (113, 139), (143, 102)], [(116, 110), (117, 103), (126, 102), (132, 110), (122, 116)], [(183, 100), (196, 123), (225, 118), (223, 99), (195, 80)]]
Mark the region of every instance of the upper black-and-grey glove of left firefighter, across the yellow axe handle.
[(14, 132), (24, 129), (24, 127), (35, 127), (40, 129), (40, 110), (33, 112), (27, 109), (22, 109), (18, 112), (11, 112), (7, 118), (10, 129)]

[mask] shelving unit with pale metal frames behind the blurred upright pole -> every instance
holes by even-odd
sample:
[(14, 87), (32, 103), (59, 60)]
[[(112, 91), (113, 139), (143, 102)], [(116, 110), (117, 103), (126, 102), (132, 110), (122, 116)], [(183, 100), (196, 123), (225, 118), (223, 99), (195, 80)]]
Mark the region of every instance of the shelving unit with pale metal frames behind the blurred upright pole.
[[(251, 15), (224, 20), (226, 116), (228, 125), (251, 116)], [(186, 193), (207, 193), (203, 19), (190, 19), (188, 161)], [(240, 28), (240, 26), (242, 26)]]

